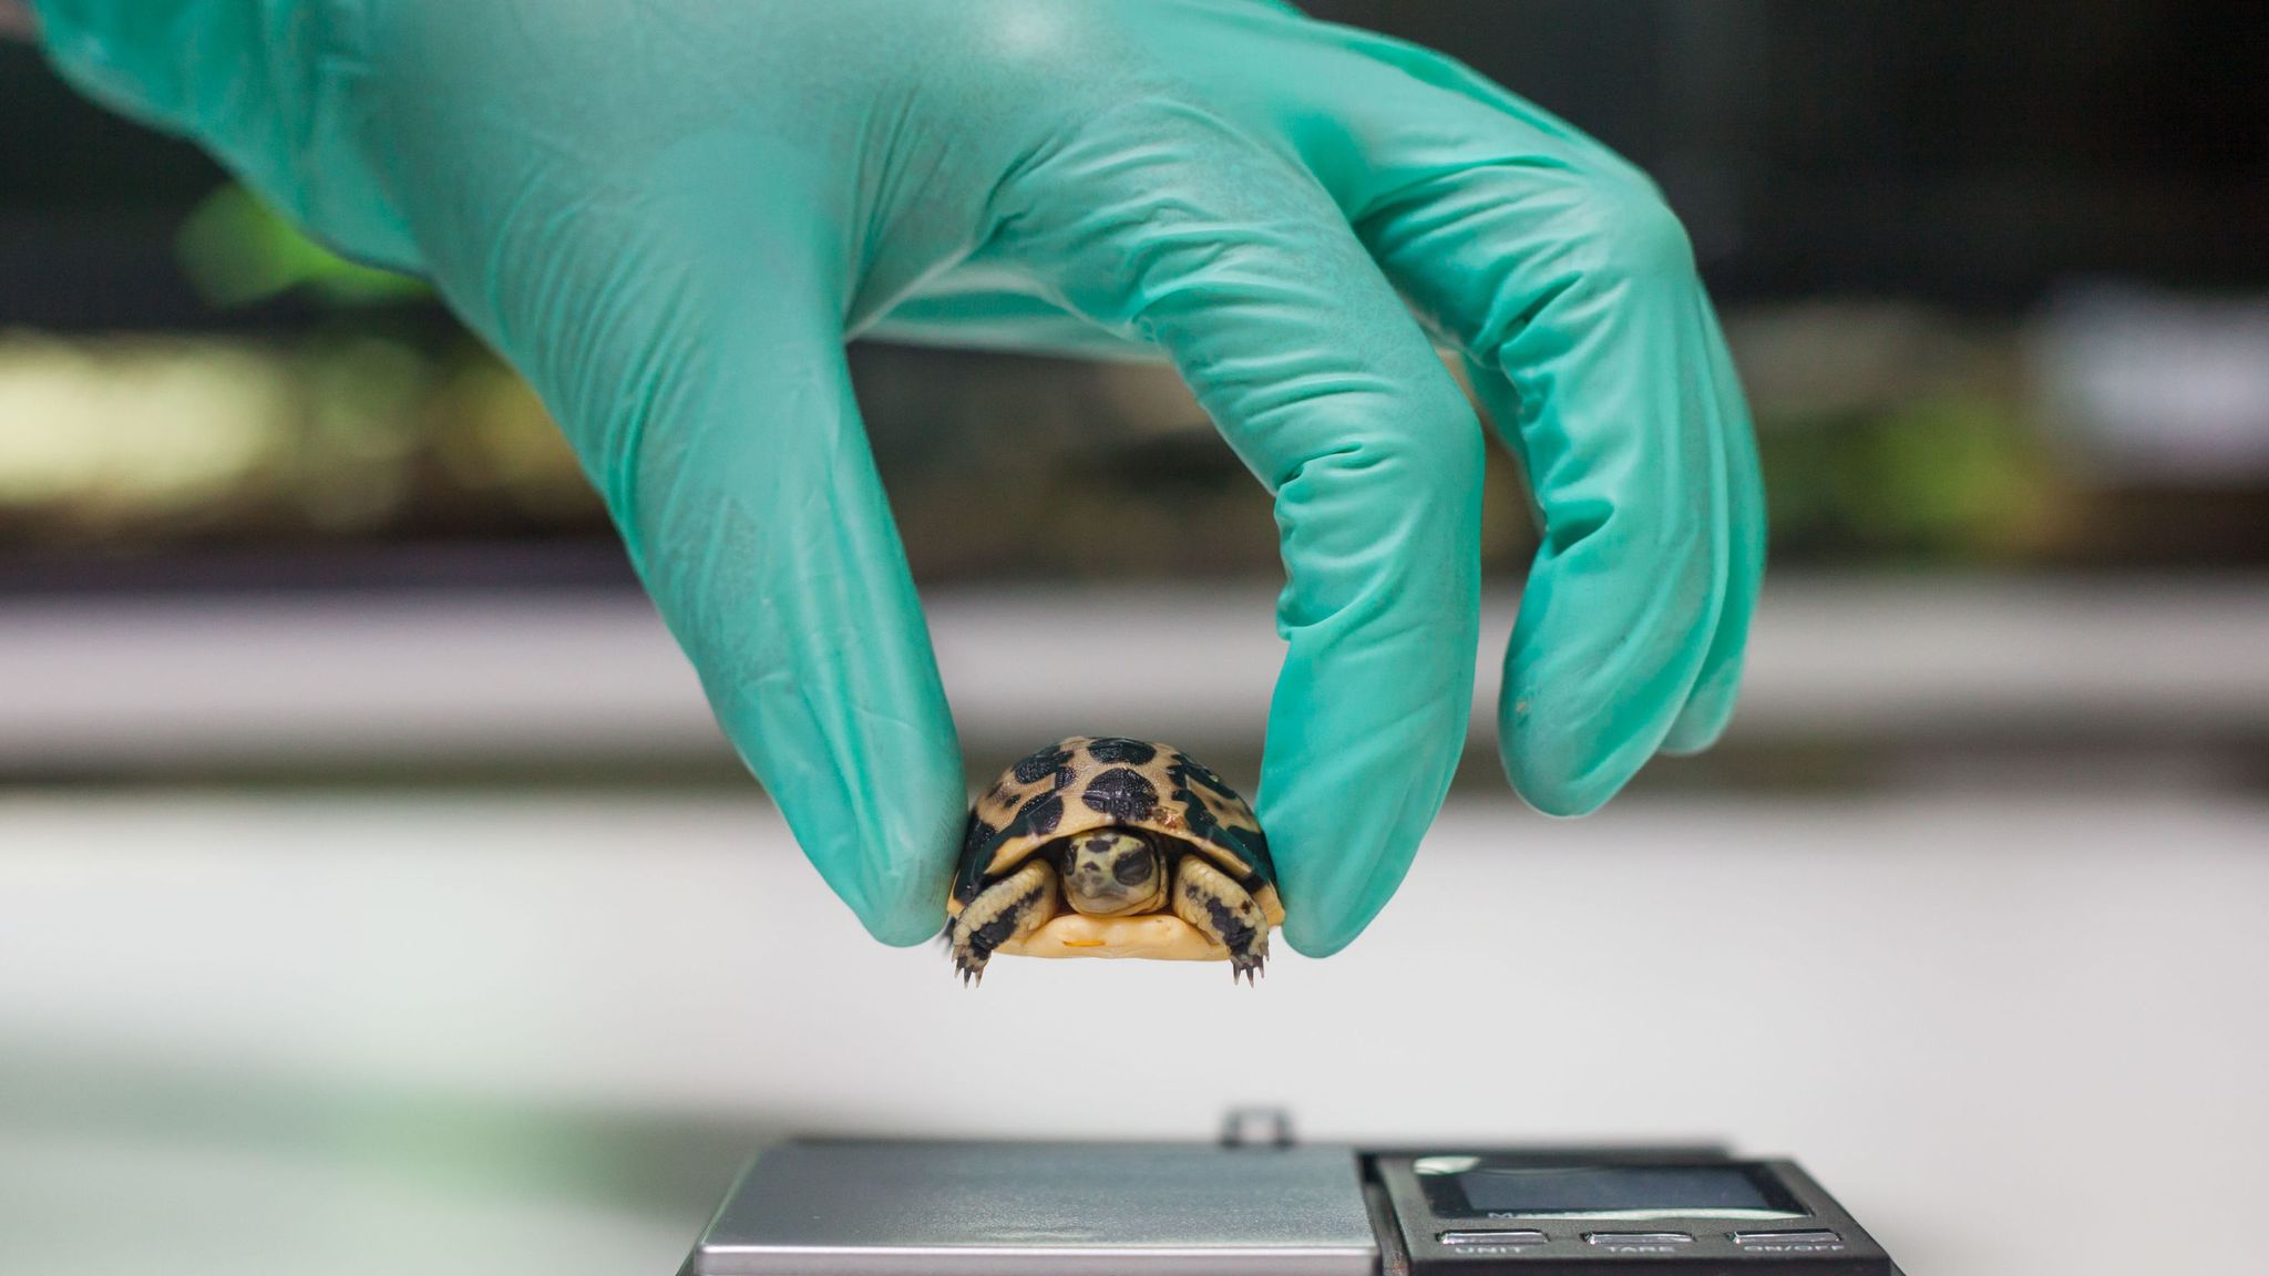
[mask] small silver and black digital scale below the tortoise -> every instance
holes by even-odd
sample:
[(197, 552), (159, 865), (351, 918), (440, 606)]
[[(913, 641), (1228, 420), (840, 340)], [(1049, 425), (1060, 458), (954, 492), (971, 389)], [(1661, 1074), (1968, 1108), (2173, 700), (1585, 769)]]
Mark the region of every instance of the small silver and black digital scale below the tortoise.
[(1625, 1271), (1897, 1276), (1790, 1160), (1289, 1138), (790, 1142), (749, 1162), (681, 1276)]

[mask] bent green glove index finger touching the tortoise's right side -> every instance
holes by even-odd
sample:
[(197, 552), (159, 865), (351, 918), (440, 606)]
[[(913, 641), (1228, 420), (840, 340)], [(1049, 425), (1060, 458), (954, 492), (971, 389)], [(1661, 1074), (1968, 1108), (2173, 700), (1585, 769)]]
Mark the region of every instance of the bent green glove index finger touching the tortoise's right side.
[(1203, 111), (1107, 116), (1003, 207), (1064, 307), (1164, 347), (1275, 495), (1289, 652), (1259, 815), (1287, 942), (1332, 954), (1402, 881), (1464, 745), (1473, 411), (1323, 188)]

